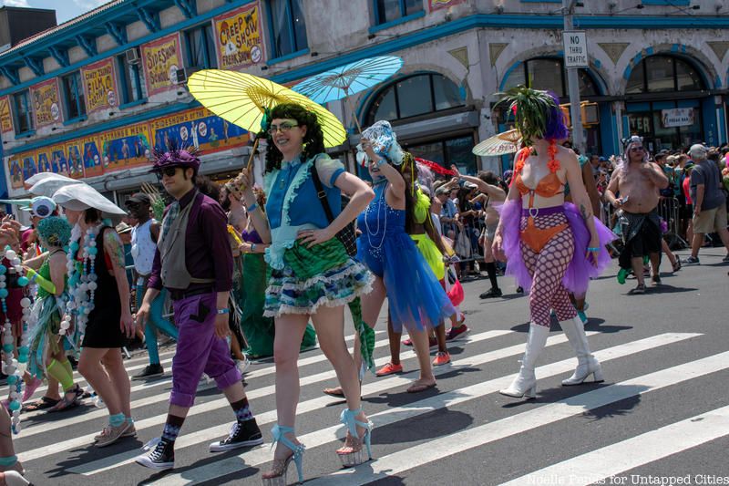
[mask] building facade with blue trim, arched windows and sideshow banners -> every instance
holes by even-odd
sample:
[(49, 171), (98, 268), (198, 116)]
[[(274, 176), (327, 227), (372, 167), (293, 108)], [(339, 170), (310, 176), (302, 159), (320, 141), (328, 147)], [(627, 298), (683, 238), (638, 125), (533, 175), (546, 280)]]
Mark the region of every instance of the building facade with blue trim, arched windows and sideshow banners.
[[(389, 119), (416, 156), (462, 171), (508, 160), (471, 149), (508, 129), (495, 93), (519, 84), (568, 102), (561, 0), (115, 0), (0, 53), (3, 171), (11, 197), (37, 171), (83, 178), (123, 202), (154, 147), (199, 146), (203, 173), (240, 170), (248, 134), (190, 96), (202, 68), (291, 86), (345, 63), (395, 55), (404, 67), (348, 102), (333, 151), (355, 170), (363, 126)], [(587, 150), (642, 135), (652, 150), (727, 140), (729, 5), (613, 0), (578, 6), (590, 66), (580, 69)], [(354, 111), (354, 112), (353, 112)], [(260, 164), (259, 164), (260, 165)], [(260, 168), (259, 168), (260, 171)]]

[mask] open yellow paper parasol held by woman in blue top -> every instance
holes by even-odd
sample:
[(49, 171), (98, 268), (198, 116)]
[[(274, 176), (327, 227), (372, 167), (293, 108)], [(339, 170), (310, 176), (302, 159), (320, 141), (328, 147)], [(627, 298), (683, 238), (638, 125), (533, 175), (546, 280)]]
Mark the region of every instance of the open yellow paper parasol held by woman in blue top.
[[(316, 114), (322, 126), (324, 147), (336, 147), (346, 140), (344, 125), (334, 114), (311, 99), (268, 79), (235, 71), (203, 69), (190, 76), (188, 88), (202, 106), (221, 119), (248, 131), (257, 133), (260, 130), (266, 109), (282, 103), (296, 103)], [(252, 152), (257, 146), (258, 139)]]

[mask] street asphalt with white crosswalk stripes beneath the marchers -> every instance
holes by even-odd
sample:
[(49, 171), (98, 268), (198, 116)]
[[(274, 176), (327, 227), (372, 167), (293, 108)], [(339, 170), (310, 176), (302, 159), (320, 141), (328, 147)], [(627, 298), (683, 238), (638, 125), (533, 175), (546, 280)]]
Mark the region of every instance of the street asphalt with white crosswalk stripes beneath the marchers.
[[(437, 388), (406, 393), (407, 382), (416, 377), (416, 358), (406, 346), (406, 374), (364, 378), (364, 411), (375, 416), (375, 460), (354, 470), (341, 470), (334, 454), (344, 402), (321, 393), (335, 385), (332, 367), (319, 349), (304, 352), (297, 432), (308, 445), (307, 483), (675, 484), (670, 481), (679, 480), (670, 477), (688, 477), (689, 484), (702, 479), (711, 484), (706, 480), (717, 476), (729, 481), (729, 354), (722, 355), (729, 352), (729, 264), (722, 262), (720, 248), (704, 248), (700, 257), (701, 265), (675, 274), (664, 259), (663, 284), (645, 295), (627, 295), (635, 281), (617, 284), (615, 264), (592, 282), (585, 329), (593, 333), (590, 346), (601, 357), (605, 382), (560, 386), (575, 360), (555, 322), (539, 357), (536, 400), (496, 392), (519, 369), (528, 298), (516, 294), (507, 278), (499, 278), (503, 298), (489, 300), (478, 298), (488, 290), (488, 279), (466, 282), (461, 308), (470, 333), (450, 343), (453, 364), (436, 368)], [(388, 357), (383, 317), (376, 328), (375, 358), (381, 363)], [(351, 324), (345, 334), (353, 334)], [(162, 359), (170, 359), (172, 351), (163, 348)], [(134, 374), (145, 364), (138, 355), (127, 366)], [(91, 445), (107, 415), (90, 404), (58, 414), (26, 414), (25, 429), (14, 441), (28, 479), (58, 486), (261, 484), (261, 471), (272, 458), (272, 359), (253, 363), (246, 374), (263, 446), (208, 451), (213, 439), (225, 436), (233, 415), (221, 393), (202, 382), (178, 440), (176, 469), (158, 473), (128, 462), (161, 432), (171, 364), (164, 366), (168, 373), (162, 379), (132, 381), (137, 439), (105, 449)], [(293, 464), (288, 478), (293, 483)]]

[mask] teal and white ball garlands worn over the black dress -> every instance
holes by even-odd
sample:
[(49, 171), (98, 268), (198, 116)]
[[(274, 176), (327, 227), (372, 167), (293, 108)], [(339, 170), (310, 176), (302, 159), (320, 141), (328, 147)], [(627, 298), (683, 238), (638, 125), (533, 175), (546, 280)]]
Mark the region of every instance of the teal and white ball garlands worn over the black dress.
[(68, 302), (66, 312), (61, 319), (60, 336), (66, 336), (71, 322), (76, 316), (78, 343), (83, 343), (84, 332), (88, 322), (88, 315), (94, 310), (94, 294), (98, 288), (95, 260), (97, 258), (97, 233), (100, 223), (87, 229), (84, 239), (84, 249), (81, 253), (82, 262), (76, 264), (76, 255), (80, 248), (81, 227), (76, 224), (71, 232), (71, 241), (68, 243), (66, 253), (66, 269), (68, 272)]

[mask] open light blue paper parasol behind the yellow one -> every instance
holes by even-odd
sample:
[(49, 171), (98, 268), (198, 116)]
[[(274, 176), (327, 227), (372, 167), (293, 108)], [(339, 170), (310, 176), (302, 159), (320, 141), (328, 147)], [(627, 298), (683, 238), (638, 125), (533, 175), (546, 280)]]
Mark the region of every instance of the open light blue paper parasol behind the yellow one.
[[(293, 87), (313, 101), (323, 104), (336, 99), (348, 98), (392, 77), (403, 67), (403, 59), (396, 56), (368, 57), (342, 67), (336, 67), (303, 80)], [(352, 106), (350, 105), (350, 109)], [(354, 117), (354, 109), (352, 109)], [(362, 127), (354, 117), (360, 133)]]

